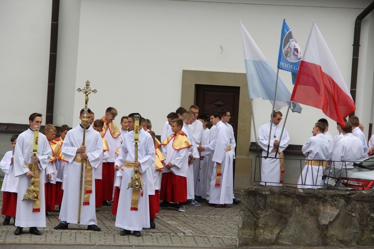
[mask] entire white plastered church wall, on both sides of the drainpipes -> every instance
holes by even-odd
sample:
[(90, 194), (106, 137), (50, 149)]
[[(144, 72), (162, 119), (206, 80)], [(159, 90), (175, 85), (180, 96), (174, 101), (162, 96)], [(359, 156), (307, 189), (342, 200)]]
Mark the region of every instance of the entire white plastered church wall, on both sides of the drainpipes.
[[(180, 105), (183, 69), (245, 73), (239, 19), (274, 69), (283, 18), (302, 49), (315, 20), (350, 86), (354, 23), (370, 2), (60, 1), (54, 123), (75, 126), (79, 122), (84, 97), (76, 89), (89, 80), (98, 90), (89, 100), (96, 118), (113, 106), (119, 112), (115, 120), (119, 125), (121, 116), (138, 111), (161, 134), (166, 115)], [(14, 102), (16, 93), (22, 99), (12, 109), (1, 108), (2, 123), (24, 124), (31, 112), (45, 114), (50, 13), (48, 0), (0, 1), (0, 21), (6, 23), (0, 27), (4, 34), (0, 39), (0, 98)], [(359, 64), (358, 91), (366, 95), (373, 92), (366, 85), (373, 85), (372, 26), (372, 19), (363, 22), (360, 48), (360, 56), (369, 53), (366, 59), (360, 57)], [(280, 71), (279, 75), (292, 91), (290, 73)], [(30, 96), (37, 101), (31, 102)], [(358, 102), (358, 116), (373, 113), (373, 108), (365, 106)], [(313, 124), (325, 117), (321, 110), (303, 108), (302, 114), (288, 117), (291, 144), (303, 144)], [(269, 101), (254, 100), (257, 129), (270, 120), (270, 110)], [(285, 115), (286, 109), (282, 112)], [(337, 134), (335, 122), (328, 120), (331, 133)]]

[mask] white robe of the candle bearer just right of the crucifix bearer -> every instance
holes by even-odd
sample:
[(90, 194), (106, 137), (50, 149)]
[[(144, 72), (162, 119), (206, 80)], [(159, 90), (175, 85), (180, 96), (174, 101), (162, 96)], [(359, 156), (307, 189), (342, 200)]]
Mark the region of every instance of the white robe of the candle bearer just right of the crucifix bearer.
[[(135, 161), (135, 143), (134, 131), (130, 131), (122, 142), (120, 153), (116, 159), (115, 165), (124, 165), (126, 161)], [(149, 175), (148, 169), (152, 167), (155, 162), (155, 145), (152, 136), (141, 129), (139, 131), (139, 142), (138, 143), (138, 161), (140, 162), (139, 172), (142, 174), (142, 191), (139, 191), (139, 202), (138, 210), (131, 211), (131, 199), (133, 188), (125, 188), (131, 181), (131, 177), (134, 176), (134, 169), (124, 167), (122, 171), (122, 183), (120, 191), (120, 197), (118, 200), (118, 211), (116, 217), (115, 226), (118, 228), (126, 229), (129, 231), (141, 231), (143, 228), (150, 227), (149, 217), (149, 197), (148, 197), (148, 178), (153, 177)]]

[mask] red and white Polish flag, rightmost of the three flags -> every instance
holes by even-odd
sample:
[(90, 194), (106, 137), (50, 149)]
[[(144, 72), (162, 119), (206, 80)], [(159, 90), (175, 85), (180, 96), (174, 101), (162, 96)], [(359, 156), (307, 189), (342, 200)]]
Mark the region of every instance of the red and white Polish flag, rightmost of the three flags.
[(356, 110), (349, 88), (314, 21), (291, 101), (321, 109), (343, 126), (344, 118)]

